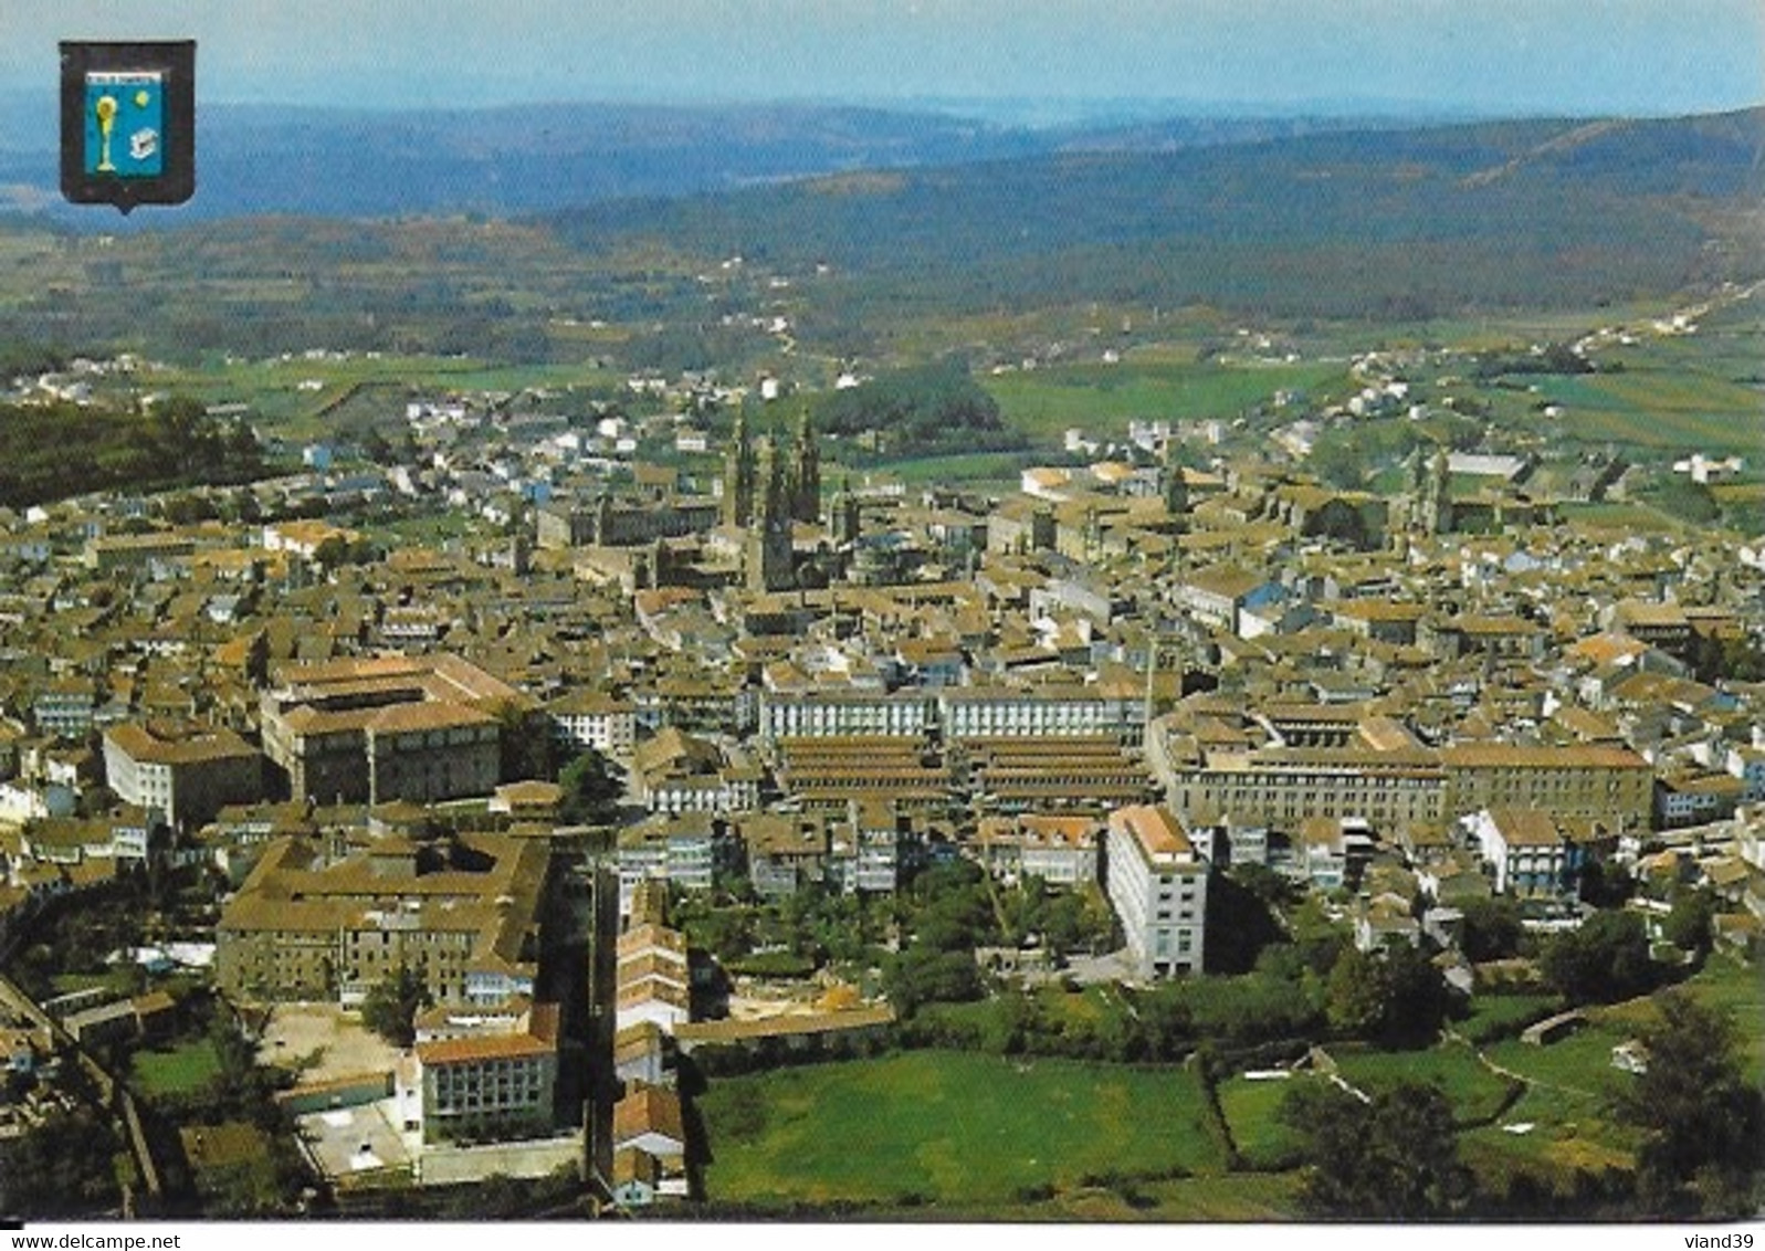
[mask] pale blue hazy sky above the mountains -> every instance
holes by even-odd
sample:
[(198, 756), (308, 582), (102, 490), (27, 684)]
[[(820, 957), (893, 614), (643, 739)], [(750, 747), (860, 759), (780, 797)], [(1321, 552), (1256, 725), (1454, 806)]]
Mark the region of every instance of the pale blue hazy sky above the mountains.
[(1765, 101), (1760, 0), (0, 0), (0, 90), (60, 39), (176, 37), (207, 101)]

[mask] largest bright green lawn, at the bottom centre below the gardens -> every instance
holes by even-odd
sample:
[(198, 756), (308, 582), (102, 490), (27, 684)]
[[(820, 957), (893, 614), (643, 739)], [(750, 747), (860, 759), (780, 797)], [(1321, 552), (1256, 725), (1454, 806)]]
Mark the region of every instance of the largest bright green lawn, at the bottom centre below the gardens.
[(706, 1193), (731, 1202), (1010, 1203), (1103, 1173), (1223, 1168), (1183, 1069), (907, 1052), (718, 1078)]

